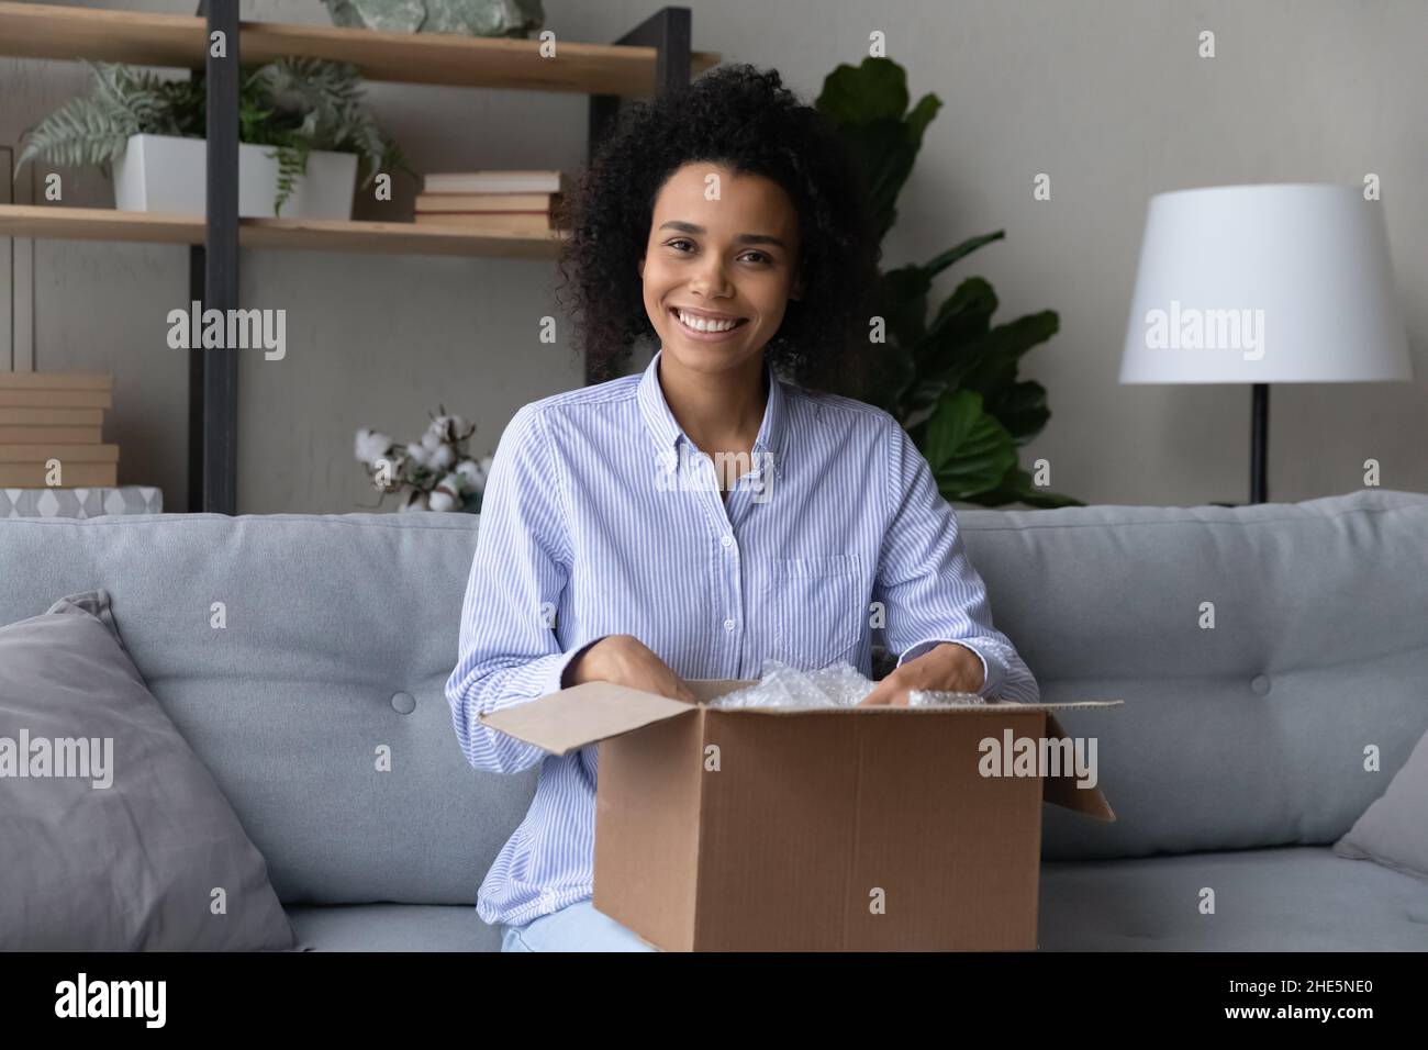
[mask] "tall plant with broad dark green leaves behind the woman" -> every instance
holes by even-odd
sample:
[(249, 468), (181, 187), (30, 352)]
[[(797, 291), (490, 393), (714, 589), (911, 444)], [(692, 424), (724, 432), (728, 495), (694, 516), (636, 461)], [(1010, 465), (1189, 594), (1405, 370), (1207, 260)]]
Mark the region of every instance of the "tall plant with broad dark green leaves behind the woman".
[[(907, 73), (890, 59), (838, 66), (824, 80), (817, 107), (860, 157), (873, 196), (880, 239), (897, 221), (897, 197), (922, 147), (922, 134), (941, 109), (935, 94), (908, 109)], [(931, 317), (932, 280), (977, 249), (1001, 240), (1002, 230), (948, 249), (927, 263), (878, 276), (874, 311), (887, 339), (870, 344), (877, 359), (863, 387), (844, 393), (891, 413), (927, 457), (947, 500), (998, 507), (1082, 506), (1047, 491), (1021, 469), (1018, 447), (1051, 417), (1047, 391), (1018, 380), (1022, 354), (1060, 327), (1051, 310), (992, 324), (997, 294), (981, 277), (967, 277)]]

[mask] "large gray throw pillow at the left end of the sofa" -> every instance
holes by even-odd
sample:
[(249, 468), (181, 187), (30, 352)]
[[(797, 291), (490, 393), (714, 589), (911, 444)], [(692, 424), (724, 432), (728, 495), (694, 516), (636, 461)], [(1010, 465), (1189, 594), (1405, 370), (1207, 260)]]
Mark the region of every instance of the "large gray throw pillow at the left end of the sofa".
[(288, 950), (267, 864), (103, 590), (0, 627), (0, 949)]

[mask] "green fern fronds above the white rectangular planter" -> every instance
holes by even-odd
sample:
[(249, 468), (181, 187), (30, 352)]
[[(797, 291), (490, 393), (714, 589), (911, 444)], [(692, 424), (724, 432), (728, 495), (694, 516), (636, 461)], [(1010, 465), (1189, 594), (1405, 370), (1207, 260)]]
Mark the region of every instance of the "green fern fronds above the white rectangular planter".
[[(107, 164), (123, 156), (134, 134), (203, 139), (207, 133), (201, 73), (163, 80), (131, 66), (86, 64), (93, 73), (90, 94), (71, 99), (34, 127), (16, 171), (36, 157), (76, 167)], [(411, 171), (363, 101), (357, 69), (323, 59), (277, 59), (244, 67), (238, 141), (274, 147), (268, 156), (278, 161), (277, 213), (307, 173), (313, 150), (356, 153), (367, 171), (363, 186), (381, 170)]]

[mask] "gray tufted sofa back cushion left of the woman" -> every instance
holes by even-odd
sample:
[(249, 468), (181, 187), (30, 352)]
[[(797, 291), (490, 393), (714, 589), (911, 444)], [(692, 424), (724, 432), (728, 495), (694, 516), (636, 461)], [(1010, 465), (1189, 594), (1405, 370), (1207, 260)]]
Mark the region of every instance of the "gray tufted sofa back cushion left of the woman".
[(451, 729), (444, 686), (476, 524), (3, 519), (0, 623), (103, 584), (134, 663), (267, 857), (283, 903), (474, 906), (537, 777), (473, 770)]

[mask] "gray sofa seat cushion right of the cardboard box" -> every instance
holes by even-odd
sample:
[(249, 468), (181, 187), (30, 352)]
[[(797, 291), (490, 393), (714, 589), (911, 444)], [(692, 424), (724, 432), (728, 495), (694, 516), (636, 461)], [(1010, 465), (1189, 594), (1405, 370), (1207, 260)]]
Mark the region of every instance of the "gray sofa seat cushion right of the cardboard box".
[[(1215, 891), (1201, 914), (1201, 890)], [(1327, 847), (1058, 861), (1044, 951), (1428, 951), (1422, 881)]]

